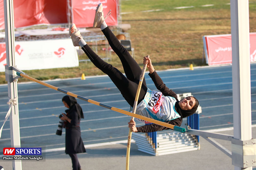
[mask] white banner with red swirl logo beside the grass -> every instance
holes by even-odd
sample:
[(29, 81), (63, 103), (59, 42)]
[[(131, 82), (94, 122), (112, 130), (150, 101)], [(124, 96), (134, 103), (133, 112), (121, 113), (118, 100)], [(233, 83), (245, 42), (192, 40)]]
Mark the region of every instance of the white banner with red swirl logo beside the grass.
[[(70, 39), (16, 41), (15, 64), (20, 70), (79, 66), (76, 48)], [(0, 72), (5, 71), (5, 43), (0, 43)]]

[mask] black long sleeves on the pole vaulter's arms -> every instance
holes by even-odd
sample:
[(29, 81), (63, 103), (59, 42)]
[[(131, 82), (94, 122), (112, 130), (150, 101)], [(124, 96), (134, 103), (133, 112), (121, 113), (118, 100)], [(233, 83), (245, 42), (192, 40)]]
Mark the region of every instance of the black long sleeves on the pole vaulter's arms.
[[(156, 71), (154, 71), (152, 74), (149, 73), (148, 75), (153, 80), (156, 88), (160, 90), (164, 96), (174, 97), (178, 101), (177, 94), (173, 90), (166, 87), (166, 85), (163, 83), (162, 79), (159, 77)], [(172, 124), (175, 126), (180, 126), (182, 124), (182, 117), (178, 117), (177, 119), (173, 119), (165, 123)], [(165, 129), (170, 129), (170, 128), (157, 125), (157, 124), (150, 124), (150, 125), (137, 127), (137, 130), (138, 130), (137, 132), (155, 132), (158, 130), (165, 130)]]

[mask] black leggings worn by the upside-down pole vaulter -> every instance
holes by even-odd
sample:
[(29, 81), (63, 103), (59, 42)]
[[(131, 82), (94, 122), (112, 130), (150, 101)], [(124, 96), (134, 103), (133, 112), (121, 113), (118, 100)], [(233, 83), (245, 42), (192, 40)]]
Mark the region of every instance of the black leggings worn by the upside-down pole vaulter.
[[(107, 38), (110, 47), (120, 58), (124, 68), (124, 73), (127, 78), (111, 64), (103, 61), (97, 54), (93, 52), (88, 44), (83, 46), (82, 49), (84, 53), (88, 56), (88, 58), (92, 61), (92, 63), (110, 77), (112, 82), (120, 90), (124, 99), (130, 104), (130, 106), (133, 107), (142, 70), (137, 62), (129, 54), (129, 52), (121, 45), (119, 40), (109, 29), (109, 27), (102, 30), (102, 32)], [(140, 103), (144, 99), (146, 92), (146, 81), (145, 79), (143, 79), (138, 103)]]

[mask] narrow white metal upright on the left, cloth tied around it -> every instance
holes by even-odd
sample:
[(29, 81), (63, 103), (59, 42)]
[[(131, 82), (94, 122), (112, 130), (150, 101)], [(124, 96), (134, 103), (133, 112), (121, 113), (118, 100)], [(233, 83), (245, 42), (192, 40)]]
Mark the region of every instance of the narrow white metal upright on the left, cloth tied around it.
[[(14, 36), (14, 19), (13, 19), (13, 0), (4, 0), (4, 20), (5, 20), (5, 45), (6, 45), (6, 62), (7, 66), (15, 66), (15, 36)], [(12, 73), (15, 75), (15, 71)], [(12, 112), (10, 114), (10, 137), (11, 146), (20, 147), (19, 132), (19, 112), (18, 112), (18, 93), (17, 82), (8, 82), (8, 97), (16, 98), (17, 105), (10, 105)], [(13, 169), (22, 170), (20, 160), (13, 160)]]

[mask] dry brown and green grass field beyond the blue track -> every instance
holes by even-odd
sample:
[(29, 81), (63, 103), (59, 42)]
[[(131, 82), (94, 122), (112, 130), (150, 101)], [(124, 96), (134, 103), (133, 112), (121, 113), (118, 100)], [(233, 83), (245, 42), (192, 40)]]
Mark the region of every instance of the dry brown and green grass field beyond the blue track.
[[(130, 0), (121, 2), (122, 23), (131, 24), (130, 33), (135, 60), (142, 67), (142, 57), (150, 55), (156, 70), (204, 66), (204, 35), (230, 34), (229, 0)], [(202, 5), (212, 6), (202, 7)], [(193, 8), (175, 9), (180, 6)], [(158, 10), (141, 12), (145, 10)], [(131, 13), (130, 13), (131, 12)], [(256, 32), (256, 1), (249, 0), (250, 32)], [(87, 56), (79, 56), (85, 59)], [(123, 71), (118, 57), (112, 54), (110, 63)], [(100, 75), (91, 62), (79, 67), (24, 71), (39, 80)], [(19, 79), (28, 81), (26, 79)], [(4, 72), (0, 83), (6, 83)]]

